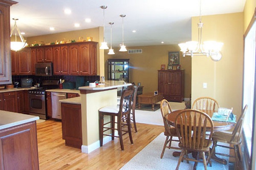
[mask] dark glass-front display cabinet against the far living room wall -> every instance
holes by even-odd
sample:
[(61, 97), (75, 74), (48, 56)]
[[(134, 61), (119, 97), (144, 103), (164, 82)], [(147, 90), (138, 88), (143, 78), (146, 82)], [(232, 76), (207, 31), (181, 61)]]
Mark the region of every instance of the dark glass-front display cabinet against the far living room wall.
[(129, 82), (129, 59), (108, 59), (108, 79)]

